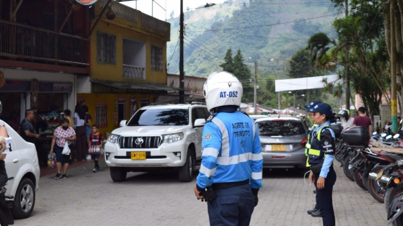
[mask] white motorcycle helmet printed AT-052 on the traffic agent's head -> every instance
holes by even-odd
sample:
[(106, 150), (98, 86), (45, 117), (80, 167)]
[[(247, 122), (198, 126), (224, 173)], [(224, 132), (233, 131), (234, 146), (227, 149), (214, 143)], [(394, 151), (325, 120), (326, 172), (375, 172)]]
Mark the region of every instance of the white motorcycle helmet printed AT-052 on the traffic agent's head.
[(243, 89), (238, 78), (226, 71), (216, 71), (209, 75), (203, 86), (207, 109), (226, 105), (241, 105)]

